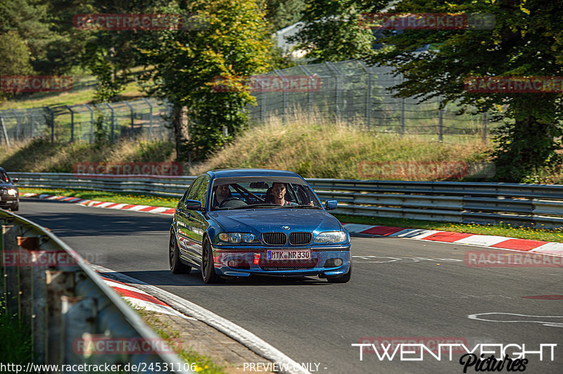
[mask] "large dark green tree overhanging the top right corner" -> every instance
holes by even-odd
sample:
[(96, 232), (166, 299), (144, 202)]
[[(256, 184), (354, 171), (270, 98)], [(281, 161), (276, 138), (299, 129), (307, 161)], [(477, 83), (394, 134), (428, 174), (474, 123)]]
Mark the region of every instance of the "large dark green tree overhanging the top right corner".
[[(346, 11), (358, 6), (350, 4)], [(362, 1), (379, 12), (384, 4)], [(346, 14), (342, 9), (333, 13)], [(371, 63), (395, 67), (405, 80), (395, 88), (399, 97), (422, 101), (441, 97), (442, 105), (461, 101), (480, 112), (501, 108), (495, 120), (502, 127), (493, 152), (498, 179), (533, 181), (543, 169), (560, 162), (562, 148), (562, 93), (469, 93), (464, 79), (482, 76), (561, 76), (563, 65), (563, 11), (555, 0), (402, 0), (390, 13), (476, 13), (493, 15), (492, 27), (467, 30), (405, 30), (388, 32), (384, 48), (362, 53)], [(331, 56), (331, 32), (319, 30), (312, 42), (319, 56)], [(306, 34), (304, 34), (306, 35)], [(312, 38), (312, 39), (311, 39)], [(436, 48), (419, 52), (426, 44)], [(350, 53), (347, 58), (355, 58)]]

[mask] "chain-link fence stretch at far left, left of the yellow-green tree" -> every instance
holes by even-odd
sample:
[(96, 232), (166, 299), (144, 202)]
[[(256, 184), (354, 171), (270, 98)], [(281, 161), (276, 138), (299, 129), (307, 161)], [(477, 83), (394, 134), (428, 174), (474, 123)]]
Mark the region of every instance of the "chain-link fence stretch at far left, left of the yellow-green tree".
[(170, 105), (156, 98), (118, 103), (0, 110), (0, 143), (36, 137), (53, 142), (172, 138)]

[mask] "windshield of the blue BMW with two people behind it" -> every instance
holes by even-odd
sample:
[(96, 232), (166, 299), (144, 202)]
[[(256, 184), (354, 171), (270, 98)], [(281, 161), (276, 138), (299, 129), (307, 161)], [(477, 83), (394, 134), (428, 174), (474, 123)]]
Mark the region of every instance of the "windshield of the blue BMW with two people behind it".
[(211, 210), (322, 209), (309, 186), (298, 177), (217, 178), (211, 188)]

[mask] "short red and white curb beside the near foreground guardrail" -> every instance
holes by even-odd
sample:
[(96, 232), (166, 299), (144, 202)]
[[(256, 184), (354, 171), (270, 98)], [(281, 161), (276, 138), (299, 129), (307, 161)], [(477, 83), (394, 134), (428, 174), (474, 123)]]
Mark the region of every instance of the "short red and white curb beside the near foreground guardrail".
[(118, 294), (120, 294), (123, 299), (130, 302), (135, 309), (145, 309), (148, 311), (155, 311), (156, 313), (170, 314), (170, 316), (178, 316), (197, 321), (196, 318), (184, 316), (184, 314), (178, 313), (175, 309), (172, 309), (170, 305), (165, 302), (161, 302), (159, 299), (149, 295), (143, 290), (134, 288), (127, 283), (120, 282), (119, 280), (106, 278), (105, 276), (102, 276), (101, 278), (106, 285), (113, 288), (115, 292), (118, 292)]

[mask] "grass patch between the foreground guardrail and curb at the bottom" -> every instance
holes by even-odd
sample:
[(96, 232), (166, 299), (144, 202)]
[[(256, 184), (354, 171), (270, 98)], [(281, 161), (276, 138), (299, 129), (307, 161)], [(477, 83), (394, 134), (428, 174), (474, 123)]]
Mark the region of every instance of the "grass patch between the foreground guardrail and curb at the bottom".
[[(174, 339), (179, 338), (179, 333), (173, 330), (172, 326), (163, 323), (158, 318), (158, 313), (153, 313), (151, 311), (146, 311), (144, 309), (135, 309), (139, 316), (143, 318), (145, 323), (149, 325), (160, 337), (170, 343), (170, 346), (176, 347), (174, 344)], [(196, 364), (196, 373), (203, 374), (224, 374), (224, 368), (213, 363), (213, 360), (207, 356), (203, 356), (194, 352), (190, 349), (179, 348), (176, 350), (178, 356), (187, 363)]]

